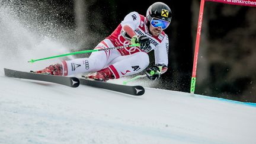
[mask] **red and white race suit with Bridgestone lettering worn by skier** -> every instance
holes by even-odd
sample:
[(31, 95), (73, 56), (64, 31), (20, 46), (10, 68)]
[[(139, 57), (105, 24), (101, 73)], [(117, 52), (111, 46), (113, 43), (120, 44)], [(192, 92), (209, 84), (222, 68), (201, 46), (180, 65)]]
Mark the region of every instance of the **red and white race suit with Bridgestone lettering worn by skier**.
[[(155, 63), (161, 63), (168, 66), (168, 47), (169, 41), (167, 34), (162, 31), (157, 37), (149, 33), (146, 26), (146, 18), (137, 12), (130, 12), (124, 17), (124, 20), (118, 25), (116, 30), (101, 41), (95, 49), (105, 49), (108, 47), (129, 46), (130, 40), (122, 34), (123, 25), (129, 25), (137, 34), (146, 35), (151, 40), (151, 50), (154, 50)], [(151, 51), (149, 50), (149, 52)], [(115, 78), (133, 75), (143, 71), (149, 65), (149, 56), (139, 47), (126, 47), (123, 49), (111, 49), (99, 52), (92, 52), (88, 58), (73, 59), (63, 61), (62, 64), (68, 70), (65, 75), (74, 75), (76, 73), (96, 72), (109, 67), (114, 73)], [(164, 70), (164, 72), (167, 69)]]

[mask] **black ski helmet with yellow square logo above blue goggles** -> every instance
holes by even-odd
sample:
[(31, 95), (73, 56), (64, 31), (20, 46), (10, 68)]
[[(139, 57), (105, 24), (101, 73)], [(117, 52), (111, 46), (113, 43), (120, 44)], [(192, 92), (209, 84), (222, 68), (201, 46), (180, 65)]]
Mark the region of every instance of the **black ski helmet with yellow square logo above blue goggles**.
[(148, 8), (148, 11), (146, 12), (146, 23), (150, 24), (152, 18), (158, 18), (171, 23), (171, 9), (163, 2), (155, 2)]

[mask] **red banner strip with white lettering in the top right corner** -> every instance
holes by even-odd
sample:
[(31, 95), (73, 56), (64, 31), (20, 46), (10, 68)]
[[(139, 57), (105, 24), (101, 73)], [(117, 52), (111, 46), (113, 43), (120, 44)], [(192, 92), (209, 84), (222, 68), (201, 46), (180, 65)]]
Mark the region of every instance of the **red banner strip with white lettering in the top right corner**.
[(249, 6), (249, 7), (256, 7), (256, 0), (206, 0), (206, 1), (221, 2), (225, 4), (231, 4), (231, 5), (243, 5), (243, 6)]

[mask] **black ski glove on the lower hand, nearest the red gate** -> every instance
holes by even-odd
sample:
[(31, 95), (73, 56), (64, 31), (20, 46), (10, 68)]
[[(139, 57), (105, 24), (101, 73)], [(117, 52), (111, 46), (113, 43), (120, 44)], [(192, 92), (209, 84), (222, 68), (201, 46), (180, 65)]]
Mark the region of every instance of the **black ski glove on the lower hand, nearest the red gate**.
[(148, 76), (149, 79), (156, 80), (160, 78), (161, 71), (162, 71), (162, 65), (156, 64), (156, 65), (153, 65), (151, 68), (146, 69), (146, 75)]

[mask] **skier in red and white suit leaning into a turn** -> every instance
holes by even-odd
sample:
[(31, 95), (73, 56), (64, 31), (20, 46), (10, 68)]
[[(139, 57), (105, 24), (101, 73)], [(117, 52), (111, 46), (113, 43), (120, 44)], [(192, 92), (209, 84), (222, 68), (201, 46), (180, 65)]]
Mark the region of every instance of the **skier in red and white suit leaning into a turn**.
[(146, 12), (146, 17), (135, 11), (130, 12), (116, 30), (94, 49), (130, 44), (139, 44), (139, 47), (92, 52), (88, 58), (64, 60), (36, 73), (67, 76), (94, 72), (87, 77), (99, 81), (118, 79), (146, 69), (149, 65), (148, 52), (154, 50), (155, 65), (146, 69), (146, 75), (149, 79), (158, 79), (168, 69), (169, 41), (163, 30), (169, 26), (171, 18), (171, 9), (162, 2), (152, 4)]

